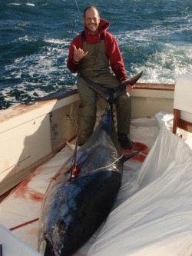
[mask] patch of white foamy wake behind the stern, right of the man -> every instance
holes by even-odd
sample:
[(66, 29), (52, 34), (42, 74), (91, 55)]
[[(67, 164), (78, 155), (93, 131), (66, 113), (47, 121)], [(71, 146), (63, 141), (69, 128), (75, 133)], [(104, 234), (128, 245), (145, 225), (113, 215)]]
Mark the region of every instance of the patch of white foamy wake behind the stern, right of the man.
[(147, 62), (131, 65), (134, 73), (143, 70), (141, 82), (174, 84), (178, 75), (192, 72), (192, 48), (190, 45), (167, 45), (163, 52), (154, 52)]

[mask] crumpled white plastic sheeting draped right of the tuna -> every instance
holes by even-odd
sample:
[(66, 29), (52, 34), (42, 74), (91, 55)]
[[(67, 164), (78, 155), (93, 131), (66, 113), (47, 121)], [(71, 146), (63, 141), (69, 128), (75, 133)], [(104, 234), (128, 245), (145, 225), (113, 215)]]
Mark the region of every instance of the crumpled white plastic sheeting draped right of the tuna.
[(157, 119), (161, 129), (132, 180), (134, 193), (111, 212), (88, 255), (192, 255), (192, 151)]

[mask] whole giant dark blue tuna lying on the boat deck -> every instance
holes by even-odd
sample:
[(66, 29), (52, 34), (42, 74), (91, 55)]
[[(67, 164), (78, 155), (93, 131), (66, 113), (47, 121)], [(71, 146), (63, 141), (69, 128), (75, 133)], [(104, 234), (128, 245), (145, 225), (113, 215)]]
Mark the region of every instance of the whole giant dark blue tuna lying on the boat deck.
[(121, 186), (124, 161), (138, 153), (122, 155), (112, 106), (126, 85), (134, 85), (140, 77), (141, 73), (113, 89), (84, 78), (109, 104), (88, 141), (51, 179), (39, 219), (38, 251), (42, 255), (73, 254), (108, 218)]

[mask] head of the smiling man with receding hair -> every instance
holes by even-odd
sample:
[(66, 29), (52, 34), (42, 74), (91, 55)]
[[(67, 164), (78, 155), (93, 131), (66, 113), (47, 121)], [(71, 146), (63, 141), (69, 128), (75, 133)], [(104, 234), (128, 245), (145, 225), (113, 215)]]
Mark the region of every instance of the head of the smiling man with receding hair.
[(98, 32), (98, 25), (100, 22), (100, 17), (98, 11), (94, 8), (89, 8), (85, 13), (85, 18), (83, 18), (84, 25), (91, 34), (96, 34)]

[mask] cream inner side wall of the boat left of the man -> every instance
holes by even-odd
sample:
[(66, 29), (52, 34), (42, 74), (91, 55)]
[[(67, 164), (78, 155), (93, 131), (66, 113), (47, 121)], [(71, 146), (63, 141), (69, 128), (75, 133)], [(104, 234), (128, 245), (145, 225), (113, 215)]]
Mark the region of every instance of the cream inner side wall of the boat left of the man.
[(28, 177), (77, 134), (78, 95), (0, 111), (0, 194)]

